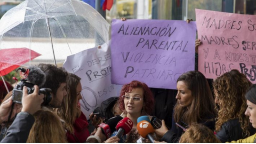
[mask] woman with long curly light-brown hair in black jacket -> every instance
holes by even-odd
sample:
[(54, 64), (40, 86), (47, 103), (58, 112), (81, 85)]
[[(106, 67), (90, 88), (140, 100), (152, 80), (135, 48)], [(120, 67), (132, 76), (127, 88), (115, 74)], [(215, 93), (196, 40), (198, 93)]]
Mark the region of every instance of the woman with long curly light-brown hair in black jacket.
[(215, 102), (219, 106), (216, 122), (217, 137), (221, 142), (243, 139), (253, 134), (246, 110), (245, 94), (252, 83), (234, 69), (218, 77), (213, 83)]

